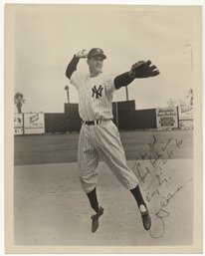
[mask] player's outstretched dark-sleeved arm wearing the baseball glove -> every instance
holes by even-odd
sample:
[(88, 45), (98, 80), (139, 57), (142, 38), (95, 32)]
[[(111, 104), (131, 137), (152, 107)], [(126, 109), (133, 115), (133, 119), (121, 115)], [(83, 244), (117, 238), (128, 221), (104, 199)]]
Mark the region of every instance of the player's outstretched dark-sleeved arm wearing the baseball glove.
[(131, 66), (129, 72), (125, 72), (114, 79), (115, 89), (128, 86), (134, 79), (149, 78), (159, 75), (155, 65), (150, 61), (139, 61)]

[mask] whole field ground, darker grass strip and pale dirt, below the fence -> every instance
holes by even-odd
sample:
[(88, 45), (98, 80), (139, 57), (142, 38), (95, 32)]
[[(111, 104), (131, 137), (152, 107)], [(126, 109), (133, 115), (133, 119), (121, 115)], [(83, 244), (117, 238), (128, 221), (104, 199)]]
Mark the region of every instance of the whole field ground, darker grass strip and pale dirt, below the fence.
[(101, 161), (98, 193), (104, 214), (95, 234), (91, 232), (94, 212), (81, 188), (75, 162), (78, 135), (15, 137), (16, 245), (192, 244), (192, 131), (121, 132), (127, 163), (140, 181), (152, 227), (150, 232), (143, 230), (132, 195)]

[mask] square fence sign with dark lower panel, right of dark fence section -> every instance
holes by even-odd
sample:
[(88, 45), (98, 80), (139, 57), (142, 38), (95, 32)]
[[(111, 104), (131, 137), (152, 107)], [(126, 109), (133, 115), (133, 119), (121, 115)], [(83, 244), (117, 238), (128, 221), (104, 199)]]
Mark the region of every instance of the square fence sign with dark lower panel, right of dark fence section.
[(156, 109), (156, 122), (157, 128), (178, 128), (176, 107)]

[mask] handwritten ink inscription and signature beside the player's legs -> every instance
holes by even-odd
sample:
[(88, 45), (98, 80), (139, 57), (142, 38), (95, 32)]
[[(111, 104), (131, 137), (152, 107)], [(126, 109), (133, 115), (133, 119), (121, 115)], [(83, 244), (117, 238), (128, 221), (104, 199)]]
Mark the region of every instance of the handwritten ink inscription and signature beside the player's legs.
[[(192, 178), (176, 186), (172, 177), (174, 170), (166, 170), (166, 165), (173, 158), (174, 152), (182, 148), (183, 140), (168, 138), (165, 142), (160, 142), (155, 135), (152, 137), (153, 141), (148, 143), (149, 150), (138, 153), (132, 169), (142, 184), (146, 201), (155, 207), (150, 211), (155, 226), (149, 230), (149, 235), (152, 238), (161, 238), (166, 229), (165, 219), (170, 216), (167, 206)], [(141, 160), (147, 161), (144, 164)]]

